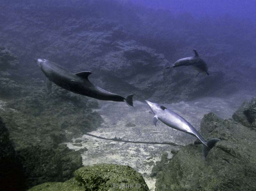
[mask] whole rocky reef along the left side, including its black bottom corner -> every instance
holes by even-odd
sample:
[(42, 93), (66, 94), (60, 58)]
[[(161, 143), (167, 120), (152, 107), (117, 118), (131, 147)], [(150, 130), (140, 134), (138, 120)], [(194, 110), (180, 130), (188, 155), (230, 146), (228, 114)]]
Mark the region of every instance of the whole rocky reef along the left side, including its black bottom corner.
[(82, 166), (82, 157), (61, 143), (100, 125), (103, 120), (92, 111), (98, 103), (57, 86), (47, 94), (38, 78), (17, 79), (11, 62), (17, 57), (6, 49), (4, 53), (0, 62), (10, 66), (0, 71), (0, 116), (8, 128), (1, 119), (1, 179), (17, 180), (4, 190), (69, 180)]

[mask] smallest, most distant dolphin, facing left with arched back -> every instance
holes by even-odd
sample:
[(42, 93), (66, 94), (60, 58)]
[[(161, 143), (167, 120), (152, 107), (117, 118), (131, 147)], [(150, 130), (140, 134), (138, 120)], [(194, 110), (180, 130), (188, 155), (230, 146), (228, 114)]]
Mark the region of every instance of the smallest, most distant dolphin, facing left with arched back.
[(169, 66), (166, 69), (179, 67), (179, 66), (193, 66), (193, 68), (198, 71), (198, 74), (203, 73), (203, 74), (209, 75), (206, 62), (204, 62), (204, 60), (200, 58), (196, 50), (193, 50), (193, 51), (195, 52), (195, 56), (177, 60), (176, 62), (173, 63), (172, 66)]

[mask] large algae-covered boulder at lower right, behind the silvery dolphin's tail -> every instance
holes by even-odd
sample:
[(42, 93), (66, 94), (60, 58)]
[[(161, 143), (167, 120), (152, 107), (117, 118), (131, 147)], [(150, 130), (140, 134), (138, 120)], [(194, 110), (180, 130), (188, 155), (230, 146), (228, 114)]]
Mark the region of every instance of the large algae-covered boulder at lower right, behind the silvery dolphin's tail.
[(202, 145), (180, 149), (156, 180), (156, 190), (255, 190), (256, 132), (215, 114), (204, 115), (205, 139), (220, 138), (205, 160)]

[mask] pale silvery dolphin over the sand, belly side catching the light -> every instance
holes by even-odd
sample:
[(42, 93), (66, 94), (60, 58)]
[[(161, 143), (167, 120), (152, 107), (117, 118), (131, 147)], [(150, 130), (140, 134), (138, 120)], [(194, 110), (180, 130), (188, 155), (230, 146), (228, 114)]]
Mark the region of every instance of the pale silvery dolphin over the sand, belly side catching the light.
[(220, 141), (220, 139), (218, 138), (212, 138), (206, 142), (204, 138), (201, 136), (201, 134), (179, 114), (176, 114), (173, 111), (167, 109), (164, 106), (160, 106), (157, 103), (152, 103), (148, 100), (145, 100), (145, 101), (147, 102), (151, 111), (155, 114), (153, 118), (153, 123), (155, 124), (155, 126), (156, 126), (156, 122), (160, 120), (165, 125), (173, 129), (177, 129), (179, 131), (196, 136), (204, 144), (204, 147), (203, 147), (204, 157), (207, 156), (208, 152), (210, 151), (210, 149), (212, 149), (212, 147), (214, 147), (215, 143)]

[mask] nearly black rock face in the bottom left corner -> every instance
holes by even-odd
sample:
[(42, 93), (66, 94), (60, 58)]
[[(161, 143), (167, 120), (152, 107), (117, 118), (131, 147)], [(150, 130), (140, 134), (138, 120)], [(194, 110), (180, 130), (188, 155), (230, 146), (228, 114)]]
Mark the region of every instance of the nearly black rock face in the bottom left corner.
[(0, 117), (0, 190), (25, 190), (24, 174), (9, 131)]

